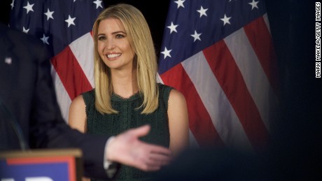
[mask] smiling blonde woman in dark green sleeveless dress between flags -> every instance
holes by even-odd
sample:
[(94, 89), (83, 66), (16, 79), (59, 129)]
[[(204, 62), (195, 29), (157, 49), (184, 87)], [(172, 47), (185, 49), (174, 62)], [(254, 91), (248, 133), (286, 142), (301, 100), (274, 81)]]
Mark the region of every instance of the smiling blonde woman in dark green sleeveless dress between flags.
[[(128, 4), (106, 8), (94, 22), (93, 38), (95, 89), (72, 101), (69, 125), (114, 136), (149, 124), (151, 131), (141, 140), (179, 154), (188, 146), (186, 100), (176, 89), (156, 82), (155, 49), (142, 13)], [(148, 178), (149, 173), (122, 165), (117, 179)]]

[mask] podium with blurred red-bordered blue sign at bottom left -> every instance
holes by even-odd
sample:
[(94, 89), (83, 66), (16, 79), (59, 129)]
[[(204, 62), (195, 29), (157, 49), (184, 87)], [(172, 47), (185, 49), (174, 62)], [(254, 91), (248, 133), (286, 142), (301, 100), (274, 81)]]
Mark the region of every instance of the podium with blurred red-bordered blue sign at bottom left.
[(78, 181), (82, 175), (78, 149), (0, 152), (0, 181)]

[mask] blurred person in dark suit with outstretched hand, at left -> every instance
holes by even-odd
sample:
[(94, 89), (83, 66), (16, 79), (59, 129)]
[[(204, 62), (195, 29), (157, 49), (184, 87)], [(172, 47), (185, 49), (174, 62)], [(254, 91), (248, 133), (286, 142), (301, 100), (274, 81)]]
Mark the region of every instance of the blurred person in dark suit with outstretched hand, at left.
[[(148, 126), (115, 136), (108, 145), (107, 137), (71, 129), (62, 119), (56, 101), (49, 59), (40, 40), (0, 24), (0, 151), (20, 150), (11, 125), (16, 122), (31, 148), (80, 147), (88, 177), (107, 179), (106, 160), (144, 171), (155, 171), (167, 164), (171, 154), (168, 149), (139, 141), (148, 133)], [(153, 160), (148, 159), (151, 152), (157, 153)]]

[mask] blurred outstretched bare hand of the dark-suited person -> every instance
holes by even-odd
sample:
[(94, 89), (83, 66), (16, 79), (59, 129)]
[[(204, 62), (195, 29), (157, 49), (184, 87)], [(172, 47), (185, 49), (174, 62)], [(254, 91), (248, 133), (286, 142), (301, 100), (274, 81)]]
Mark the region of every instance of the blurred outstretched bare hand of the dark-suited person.
[(158, 171), (161, 166), (169, 163), (172, 152), (158, 145), (144, 143), (139, 137), (146, 136), (150, 126), (130, 129), (119, 134), (107, 147), (107, 159), (142, 171)]

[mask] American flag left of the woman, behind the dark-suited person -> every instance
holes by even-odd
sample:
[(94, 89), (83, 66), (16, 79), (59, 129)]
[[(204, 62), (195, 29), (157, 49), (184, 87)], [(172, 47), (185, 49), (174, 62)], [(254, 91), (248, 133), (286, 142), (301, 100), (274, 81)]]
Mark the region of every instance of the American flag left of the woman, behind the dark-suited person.
[[(92, 25), (100, 0), (27, 0), (11, 3), (10, 27), (48, 45), (57, 101), (68, 120), (71, 100), (94, 87)], [(49, 60), (48, 60), (49, 61)]]

